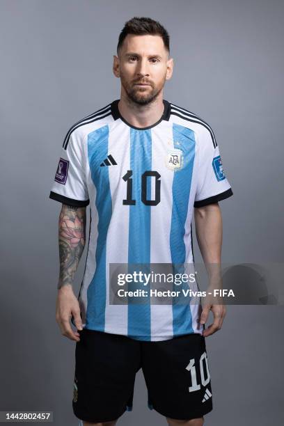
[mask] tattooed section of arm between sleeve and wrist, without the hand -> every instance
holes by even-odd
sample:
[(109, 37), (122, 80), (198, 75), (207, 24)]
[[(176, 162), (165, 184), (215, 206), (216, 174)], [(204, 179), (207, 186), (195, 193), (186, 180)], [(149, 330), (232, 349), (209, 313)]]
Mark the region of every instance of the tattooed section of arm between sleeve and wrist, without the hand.
[(86, 207), (62, 206), (58, 223), (60, 271), (58, 289), (73, 283), (86, 241)]

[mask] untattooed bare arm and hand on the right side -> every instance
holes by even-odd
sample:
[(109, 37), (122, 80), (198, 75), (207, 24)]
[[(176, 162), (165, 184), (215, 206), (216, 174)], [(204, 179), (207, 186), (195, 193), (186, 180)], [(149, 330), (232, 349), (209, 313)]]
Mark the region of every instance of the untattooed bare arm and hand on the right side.
[[(198, 246), (207, 267), (210, 285), (216, 288), (221, 282), (222, 216), (219, 204), (194, 209), (194, 221)], [(203, 332), (205, 337), (221, 329), (226, 315), (225, 305), (207, 301), (200, 317), (201, 324), (207, 321), (210, 310), (214, 315), (214, 322)]]

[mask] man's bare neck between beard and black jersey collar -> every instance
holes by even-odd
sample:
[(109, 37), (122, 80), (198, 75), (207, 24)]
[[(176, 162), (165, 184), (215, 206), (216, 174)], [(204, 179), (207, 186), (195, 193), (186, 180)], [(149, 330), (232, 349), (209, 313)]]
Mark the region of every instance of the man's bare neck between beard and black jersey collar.
[(164, 113), (163, 93), (159, 93), (153, 102), (147, 105), (139, 105), (124, 95), (120, 94), (118, 102), (120, 115), (134, 127), (148, 127), (157, 123)]

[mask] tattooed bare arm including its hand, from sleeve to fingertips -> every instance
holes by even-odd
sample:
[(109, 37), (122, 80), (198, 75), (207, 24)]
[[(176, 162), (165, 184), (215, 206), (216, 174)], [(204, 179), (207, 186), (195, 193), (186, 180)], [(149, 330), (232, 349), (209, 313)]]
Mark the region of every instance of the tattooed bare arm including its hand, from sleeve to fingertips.
[(72, 284), (86, 242), (86, 207), (62, 205), (58, 221), (60, 271), (56, 299), (56, 321), (63, 336), (79, 339), (70, 326), (74, 316), (77, 330), (82, 329), (80, 308)]

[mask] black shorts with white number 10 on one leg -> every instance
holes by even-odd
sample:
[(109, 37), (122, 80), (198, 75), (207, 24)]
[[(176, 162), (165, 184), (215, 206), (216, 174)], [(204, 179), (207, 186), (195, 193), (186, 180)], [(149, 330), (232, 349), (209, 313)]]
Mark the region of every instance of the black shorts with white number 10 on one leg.
[(187, 334), (149, 342), (83, 329), (76, 344), (73, 411), (100, 423), (132, 410), (136, 372), (143, 370), (148, 407), (190, 420), (212, 410), (205, 338)]

